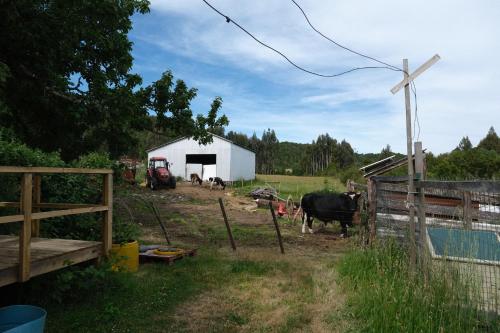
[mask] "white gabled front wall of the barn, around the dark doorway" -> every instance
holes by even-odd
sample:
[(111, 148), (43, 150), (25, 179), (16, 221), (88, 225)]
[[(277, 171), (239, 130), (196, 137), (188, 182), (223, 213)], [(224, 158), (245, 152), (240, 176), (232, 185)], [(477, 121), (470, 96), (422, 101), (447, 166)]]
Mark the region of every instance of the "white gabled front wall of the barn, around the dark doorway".
[[(231, 143), (214, 136), (214, 141), (206, 146), (199, 145), (192, 139), (182, 139), (148, 153), (152, 156), (164, 156), (171, 163), (170, 170), (174, 176), (186, 177), (186, 154), (216, 154), (217, 176), (230, 180)], [(189, 175), (188, 175), (189, 176)]]

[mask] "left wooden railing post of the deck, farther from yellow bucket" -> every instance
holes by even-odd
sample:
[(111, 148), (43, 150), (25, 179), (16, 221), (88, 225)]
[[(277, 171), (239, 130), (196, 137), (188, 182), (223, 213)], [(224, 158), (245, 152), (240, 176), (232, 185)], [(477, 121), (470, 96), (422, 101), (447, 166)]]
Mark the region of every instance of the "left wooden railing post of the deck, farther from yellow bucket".
[(19, 281), (30, 278), (31, 210), (33, 208), (33, 174), (24, 173), (21, 186), (21, 209), (24, 220), (19, 233)]

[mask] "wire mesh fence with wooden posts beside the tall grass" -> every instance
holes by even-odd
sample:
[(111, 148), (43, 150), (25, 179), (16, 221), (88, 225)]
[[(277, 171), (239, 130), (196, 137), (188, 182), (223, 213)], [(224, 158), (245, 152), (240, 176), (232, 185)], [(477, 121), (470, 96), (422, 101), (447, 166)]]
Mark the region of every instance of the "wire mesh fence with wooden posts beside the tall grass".
[[(438, 273), (459, 291), (457, 302), (500, 314), (500, 182), (371, 179), (372, 228), (414, 252), (413, 269)], [(414, 216), (414, 223), (411, 216)]]

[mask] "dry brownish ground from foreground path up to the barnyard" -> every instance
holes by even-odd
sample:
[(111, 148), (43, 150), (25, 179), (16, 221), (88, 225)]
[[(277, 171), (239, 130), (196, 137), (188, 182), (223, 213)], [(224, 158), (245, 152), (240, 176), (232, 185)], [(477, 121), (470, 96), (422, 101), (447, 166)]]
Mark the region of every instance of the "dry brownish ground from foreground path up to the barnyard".
[[(338, 286), (335, 263), (349, 247), (339, 237), (340, 227), (314, 224), (314, 234), (301, 233), (295, 222), (279, 218), (285, 254), (279, 250), (268, 209), (231, 189), (210, 190), (182, 182), (175, 190), (151, 192), (136, 188), (129, 198), (153, 200), (161, 212), (170, 239), (182, 246), (206, 248), (216, 255), (245, 262), (282, 267), (263, 276), (235, 281), (229, 287), (207, 290), (183, 304), (173, 316), (186, 332), (343, 332), (344, 296)], [(237, 251), (227, 239), (218, 198), (222, 198)], [(133, 203), (129, 202), (130, 205)], [(137, 209), (134, 209), (137, 211)], [(146, 210), (136, 217), (143, 241), (164, 242), (157, 222)], [(189, 320), (185, 313), (189, 312)]]

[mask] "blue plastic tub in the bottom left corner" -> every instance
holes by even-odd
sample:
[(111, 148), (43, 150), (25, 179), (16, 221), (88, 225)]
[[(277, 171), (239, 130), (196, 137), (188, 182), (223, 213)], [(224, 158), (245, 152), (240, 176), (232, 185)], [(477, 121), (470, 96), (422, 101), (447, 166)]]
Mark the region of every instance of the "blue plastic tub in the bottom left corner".
[(43, 333), (47, 312), (32, 305), (11, 305), (0, 308), (0, 332)]

